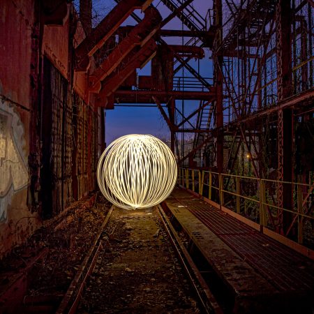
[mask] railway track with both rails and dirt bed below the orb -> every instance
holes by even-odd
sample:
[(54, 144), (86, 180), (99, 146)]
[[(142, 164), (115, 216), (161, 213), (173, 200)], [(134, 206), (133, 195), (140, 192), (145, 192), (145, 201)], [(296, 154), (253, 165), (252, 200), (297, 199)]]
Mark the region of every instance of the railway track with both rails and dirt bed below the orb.
[[(97, 294), (99, 287), (105, 292)], [(149, 211), (111, 207), (65, 294), (24, 297), (17, 311), (3, 313), (117, 313), (119, 308), (121, 313), (223, 313), (161, 206)]]

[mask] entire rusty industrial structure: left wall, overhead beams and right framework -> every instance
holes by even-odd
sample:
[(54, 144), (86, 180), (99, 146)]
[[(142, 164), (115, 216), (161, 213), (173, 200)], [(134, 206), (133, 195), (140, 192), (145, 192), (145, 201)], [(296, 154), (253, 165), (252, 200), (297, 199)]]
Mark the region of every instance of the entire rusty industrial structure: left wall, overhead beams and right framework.
[(313, 248), (313, 1), (2, 2), (0, 256), (96, 189), (125, 105), (158, 108), (181, 185)]

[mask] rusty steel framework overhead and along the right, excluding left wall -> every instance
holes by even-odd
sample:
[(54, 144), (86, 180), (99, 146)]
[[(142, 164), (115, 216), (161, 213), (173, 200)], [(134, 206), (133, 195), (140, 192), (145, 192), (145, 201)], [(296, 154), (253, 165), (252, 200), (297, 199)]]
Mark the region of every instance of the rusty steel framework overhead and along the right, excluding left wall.
[[(94, 60), (89, 93), (98, 106), (156, 105), (181, 167), (273, 180), (264, 190), (272, 204), (266, 225), (302, 243), (293, 212), (304, 214), (301, 225), (313, 216), (313, 1), (214, 0), (200, 13), (196, 0), (121, 0), (94, 29), (91, 3), (81, 2), (89, 2), (81, 12), (87, 38), (75, 49), (76, 70)], [(121, 27), (128, 16), (135, 26)], [(181, 27), (167, 29), (172, 19)], [(149, 61), (151, 75), (137, 75)], [(188, 110), (191, 100), (196, 110)], [(232, 177), (221, 184), (244, 197), (262, 188)]]

